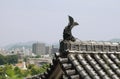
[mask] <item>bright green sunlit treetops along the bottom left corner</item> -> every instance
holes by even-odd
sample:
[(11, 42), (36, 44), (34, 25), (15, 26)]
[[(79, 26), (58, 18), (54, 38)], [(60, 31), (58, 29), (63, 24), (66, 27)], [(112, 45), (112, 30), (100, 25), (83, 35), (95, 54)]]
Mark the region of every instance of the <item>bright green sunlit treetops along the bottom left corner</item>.
[(48, 67), (48, 64), (44, 64), (41, 67), (30, 64), (28, 65), (27, 70), (22, 70), (19, 67), (13, 67), (13, 65), (5, 64), (3, 67), (0, 67), (0, 79), (23, 79), (27, 76), (43, 73)]

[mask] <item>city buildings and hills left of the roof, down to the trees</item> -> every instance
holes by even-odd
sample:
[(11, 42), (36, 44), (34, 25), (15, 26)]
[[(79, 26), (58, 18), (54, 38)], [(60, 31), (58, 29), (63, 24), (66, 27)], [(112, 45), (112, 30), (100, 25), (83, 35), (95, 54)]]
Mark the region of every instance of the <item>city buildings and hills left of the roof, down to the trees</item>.
[[(3, 56), (18, 56), (18, 63), (22, 62), (21, 65), (17, 65), (20, 68), (26, 68), (24, 65), (35, 64), (37, 66), (42, 66), (43, 64), (50, 64), (53, 54), (59, 51), (59, 44), (46, 44), (42, 42), (27, 42), (27, 43), (17, 43), (13, 45), (5, 46), (0, 48), (0, 54)], [(26, 58), (26, 61), (24, 61)]]

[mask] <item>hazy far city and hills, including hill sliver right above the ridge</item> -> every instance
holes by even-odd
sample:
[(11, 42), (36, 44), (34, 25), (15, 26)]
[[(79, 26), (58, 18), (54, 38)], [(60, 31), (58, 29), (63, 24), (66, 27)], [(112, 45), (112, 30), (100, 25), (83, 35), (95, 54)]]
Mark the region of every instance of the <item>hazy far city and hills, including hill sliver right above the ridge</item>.
[[(111, 42), (120, 42), (120, 39), (108, 40)], [(6, 45), (0, 48), (0, 54), (6, 55), (19, 55), (20, 60), (24, 57), (28, 58), (53, 58), (53, 54), (59, 52), (59, 43), (47, 44), (43, 42), (23, 42), (11, 45)]]

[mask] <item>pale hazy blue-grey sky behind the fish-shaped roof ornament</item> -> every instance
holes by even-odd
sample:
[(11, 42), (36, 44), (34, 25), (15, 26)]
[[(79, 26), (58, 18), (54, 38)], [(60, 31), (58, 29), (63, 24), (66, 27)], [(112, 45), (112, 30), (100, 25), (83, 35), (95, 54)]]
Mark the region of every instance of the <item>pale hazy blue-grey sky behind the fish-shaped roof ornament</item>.
[(71, 15), (81, 40), (120, 38), (120, 0), (0, 0), (0, 46), (59, 42)]

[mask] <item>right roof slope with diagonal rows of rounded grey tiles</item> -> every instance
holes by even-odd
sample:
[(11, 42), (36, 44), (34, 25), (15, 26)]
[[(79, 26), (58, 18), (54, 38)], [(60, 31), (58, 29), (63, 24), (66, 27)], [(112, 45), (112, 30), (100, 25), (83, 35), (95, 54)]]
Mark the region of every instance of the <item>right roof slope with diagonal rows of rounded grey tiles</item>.
[(120, 79), (119, 54), (69, 54), (68, 59), (73, 69), (65, 71), (71, 79)]

